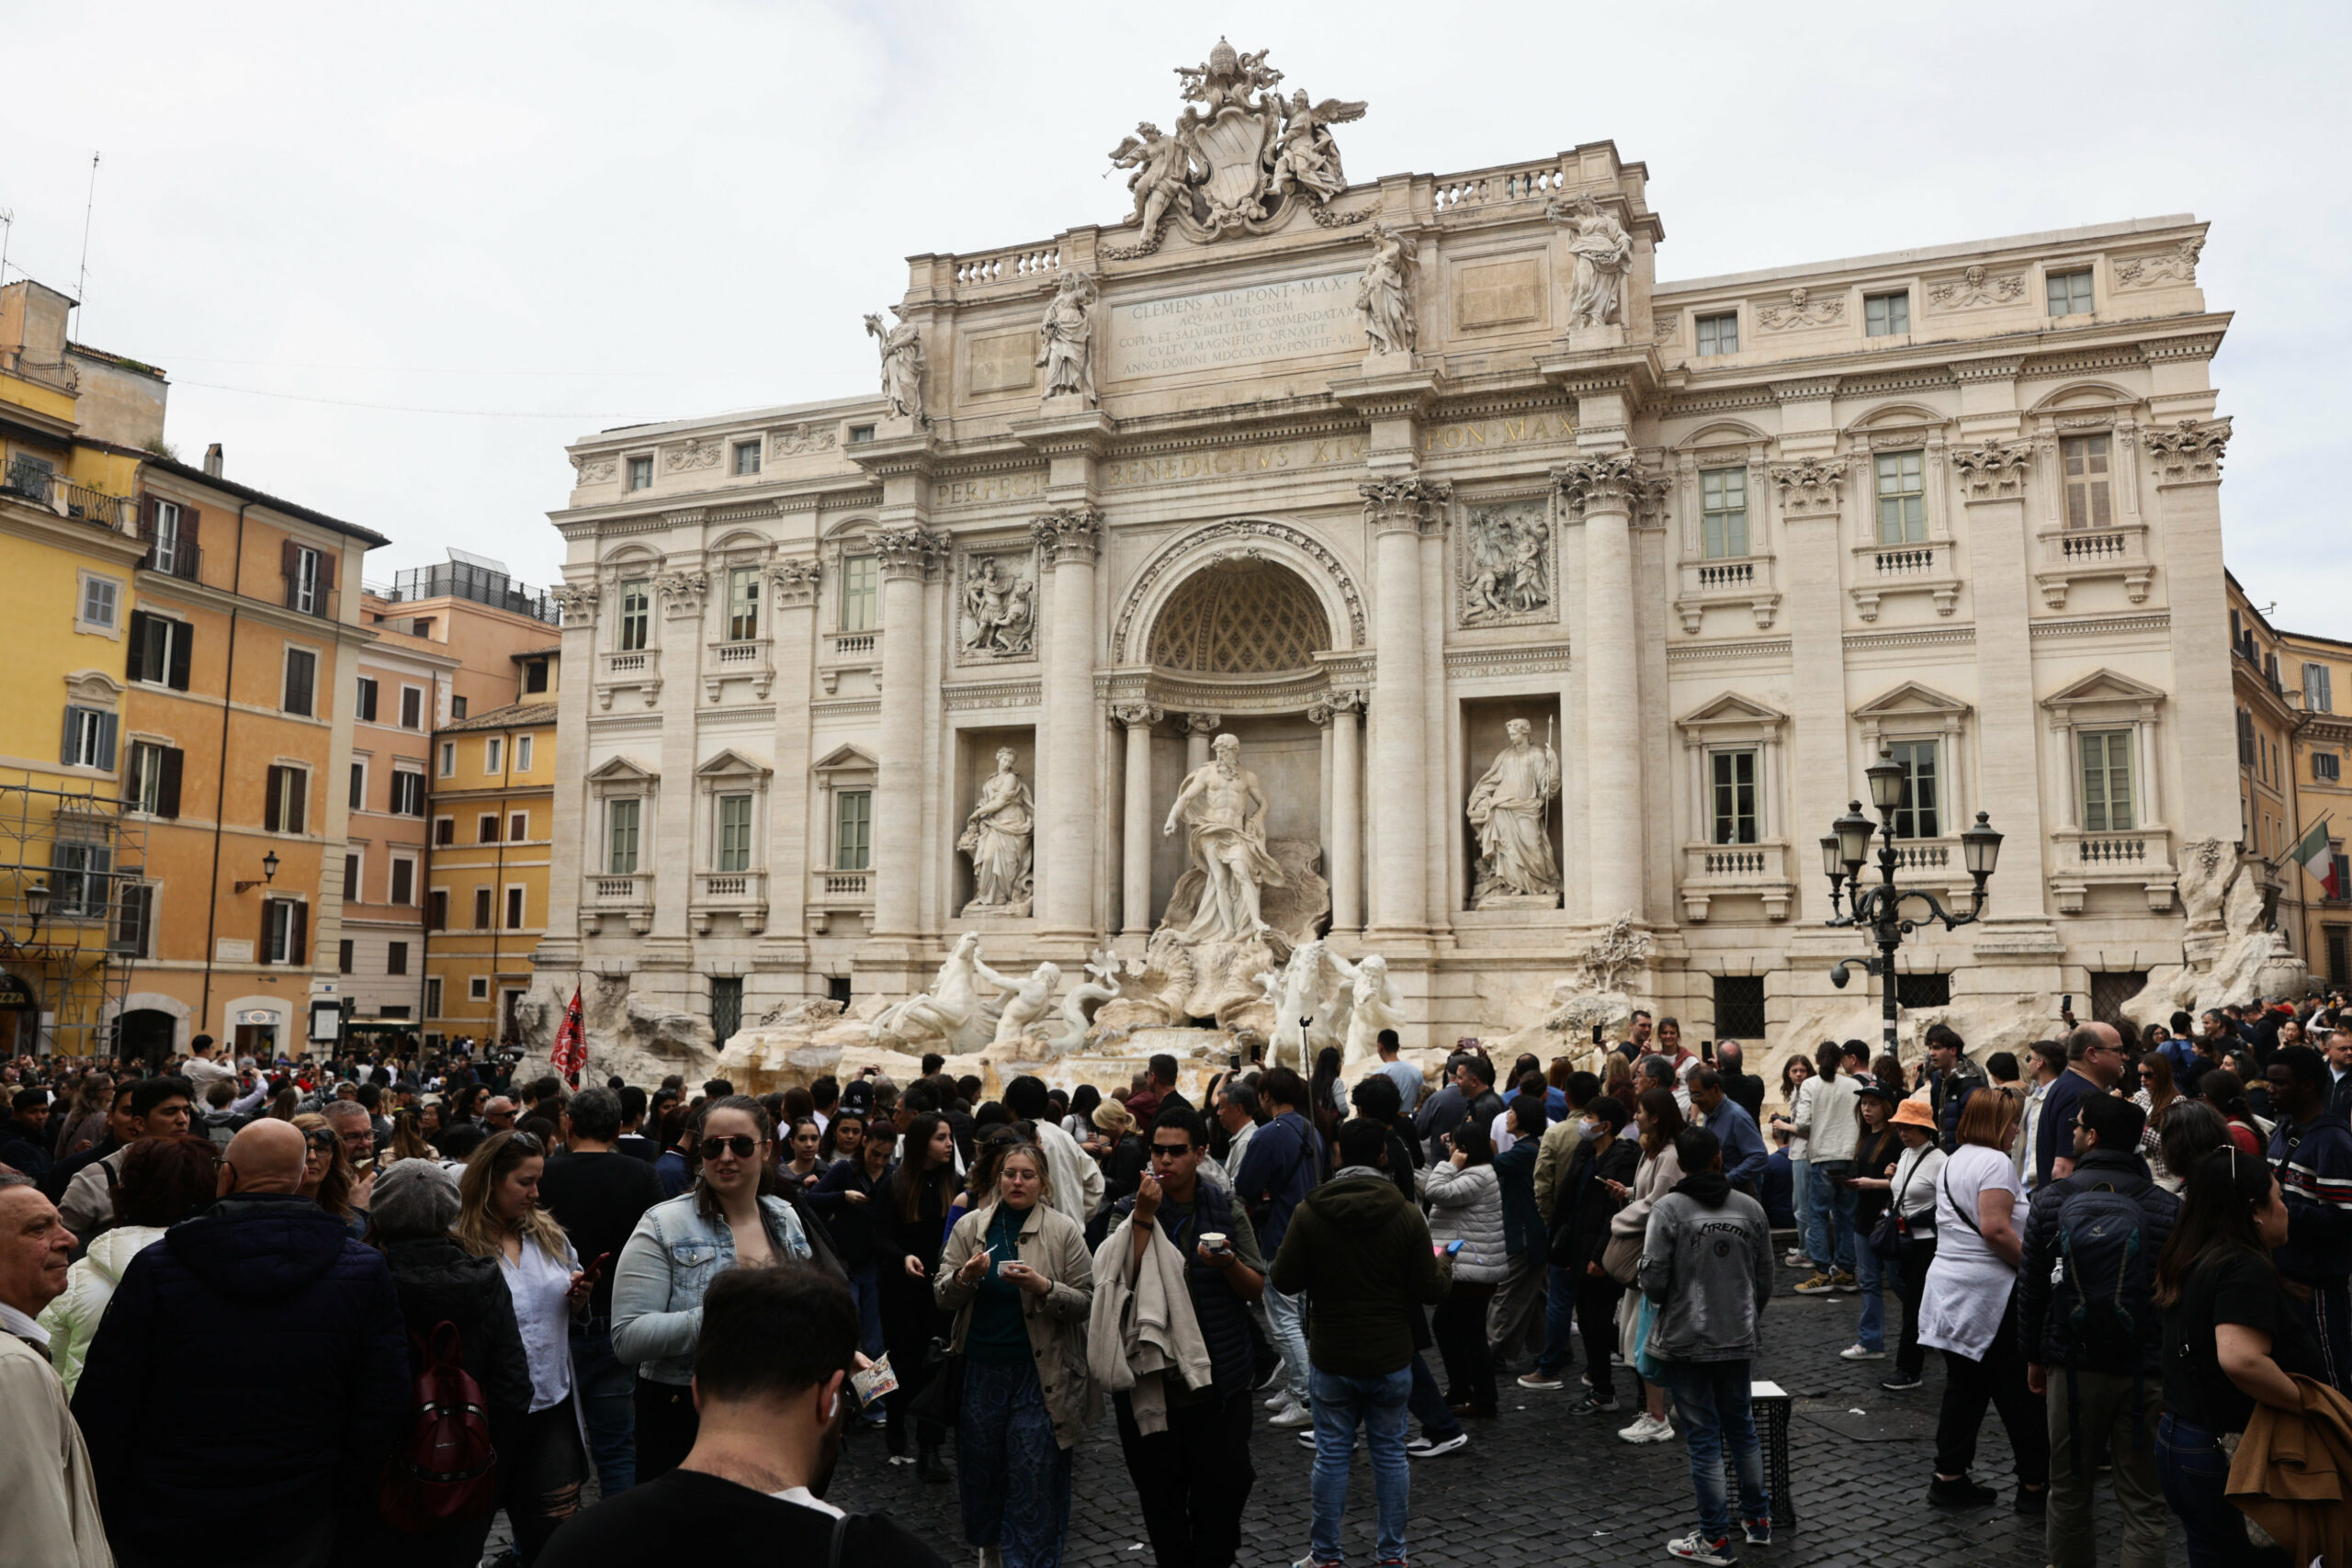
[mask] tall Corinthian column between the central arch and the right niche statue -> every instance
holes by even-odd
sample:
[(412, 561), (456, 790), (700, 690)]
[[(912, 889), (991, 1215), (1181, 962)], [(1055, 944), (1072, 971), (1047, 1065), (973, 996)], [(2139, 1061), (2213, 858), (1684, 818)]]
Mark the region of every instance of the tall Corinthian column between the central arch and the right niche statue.
[[(1371, 715), (1371, 936), (1421, 940), (1430, 929), (1430, 799), (1423, 691), (1428, 632), (1421, 621), (1421, 534), (1444, 527), (1454, 487), (1397, 475), (1357, 487), (1371, 524), (1374, 684)], [(1334, 762), (1336, 766), (1336, 762)]]

